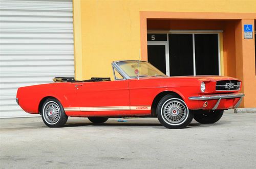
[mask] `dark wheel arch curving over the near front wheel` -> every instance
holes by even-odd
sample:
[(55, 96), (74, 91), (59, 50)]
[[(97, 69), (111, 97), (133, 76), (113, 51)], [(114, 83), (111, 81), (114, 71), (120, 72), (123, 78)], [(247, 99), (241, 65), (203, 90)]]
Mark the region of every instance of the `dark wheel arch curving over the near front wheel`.
[(179, 94), (178, 92), (171, 91), (171, 90), (162, 91), (162, 92), (158, 93), (158, 94), (155, 96), (155, 98), (154, 98), (154, 100), (153, 100), (153, 102), (152, 102), (152, 105), (151, 105), (151, 115), (152, 115), (152, 116), (154, 116), (154, 117), (157, 116), (157, 115), (156, 115), (157, 105), (158, 105), (159, 101), (160, 101), (165, 95), (168, 95), (168, 94), (175, 94), (175, 95), (177, 95), (178, 98), (180, 98), (181, 100), (184, 101), (184, 98), (183, 98), (184, 96), (181, 95), (181, 94)]

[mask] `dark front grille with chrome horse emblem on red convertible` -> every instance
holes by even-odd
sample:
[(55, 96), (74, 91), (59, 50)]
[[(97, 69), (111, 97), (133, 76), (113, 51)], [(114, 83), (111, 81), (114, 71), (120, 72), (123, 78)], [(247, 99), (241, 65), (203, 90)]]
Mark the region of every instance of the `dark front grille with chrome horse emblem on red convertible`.
[(218, 81), (216, 84), (216, 90), (239, 90), (241, 82), (237, 80), (223, 80)]

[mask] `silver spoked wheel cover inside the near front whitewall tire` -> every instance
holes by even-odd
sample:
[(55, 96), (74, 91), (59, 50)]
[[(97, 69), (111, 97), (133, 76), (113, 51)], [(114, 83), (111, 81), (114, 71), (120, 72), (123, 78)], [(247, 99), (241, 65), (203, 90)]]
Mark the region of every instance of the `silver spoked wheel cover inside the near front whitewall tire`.
[(182, 102), (170, 100), (163, 105), (162, 114), (169, 123), (178, 124), (186, 117), (187, 109)]

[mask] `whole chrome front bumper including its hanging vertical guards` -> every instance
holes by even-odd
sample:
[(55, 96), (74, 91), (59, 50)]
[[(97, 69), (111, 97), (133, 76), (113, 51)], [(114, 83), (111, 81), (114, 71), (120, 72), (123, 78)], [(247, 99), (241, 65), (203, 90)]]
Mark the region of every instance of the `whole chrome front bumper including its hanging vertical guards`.
[(232, 98), (240, 98), (236, 106), (234, 108), (238, 108), (240, 105), (242, 98), (244, 94), (243, 93), (231, 93), (231, 94), (208, 94), (208, 95), (202, 95), (202, 96), (191, 96), (188, 99), (189, 100), (196, 100), (196, 101), (206, 101), (206, 100), (214, 100), (218, 99), (217, 103), (215, 104), (214, 108), (212, 110), (216, 110), (221, 102), (221, 99), (232, 99)]

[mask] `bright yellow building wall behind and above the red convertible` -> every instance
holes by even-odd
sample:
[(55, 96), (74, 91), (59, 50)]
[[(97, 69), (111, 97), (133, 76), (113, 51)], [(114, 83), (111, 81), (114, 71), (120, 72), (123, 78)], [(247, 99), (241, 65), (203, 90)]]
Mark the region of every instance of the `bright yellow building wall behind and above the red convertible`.
[[(139, 59), (146, 56), (145, 18), (141, 12), (214, 12), (209, 19), (222, 17), (224, 13), (251, 13), (256, 19), (255, 0), (73, 0), (75, 76), (77, 80), (91, 77), (111, 77), (113, 60)], [(158, 13), (164, 16), (164, 13)], [(144, 16), (151, 14), (144, 13)], [(176, 17), (179, 14), (176, 13)], [(231, 19), (239, 18), (232, 15)], [(241, 14), (242, 15), (242, 14)], [(144, 17), (143, 16), (143, 17)], [(153, 15), (152, 15), (153, 16)], [(172, 13), (165, 15), (172, 17)], [(189, 14), (183, 13), (189, 17)], [(200, 14), (197, 16), (200, 16)], [(203, 14), (202, 14), (203, 16)], [(255, 17), (254, 17), (255, 16)], [(158, 17), (156, 17), (158, 18)], [(161, 18), (161, 17), (160, 17)], [(141, 44), (144, 44), (142, 46)], [(250, 51), (252, 53), (252, 51)], [(237, 69), (238, 70), (238, 69)], [(223, 72), (222, 72), (223, 73)], [(256, 76), (253, 77), (256, 80)], [(256, 90), (254, 91), (256, 93)], [(250, 99), (250, 98), (248, 98)], [(248, 104), (250, 107), (253, 104)], [(255, 104), (254, 104), (255, 105)], [(256, 107), (256, 105), (255, 105)]]

